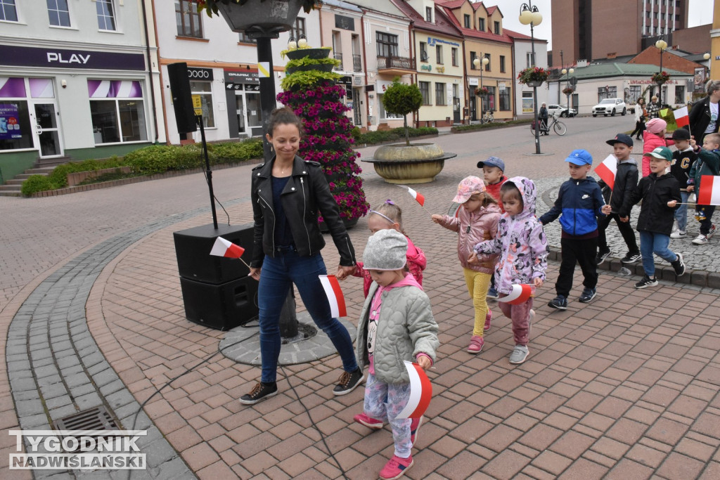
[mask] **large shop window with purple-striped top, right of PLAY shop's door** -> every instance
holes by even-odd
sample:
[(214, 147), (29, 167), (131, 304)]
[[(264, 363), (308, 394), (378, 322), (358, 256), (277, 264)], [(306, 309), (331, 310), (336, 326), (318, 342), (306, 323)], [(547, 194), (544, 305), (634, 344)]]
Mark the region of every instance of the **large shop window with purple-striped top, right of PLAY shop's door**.
[(88, 80), (88, 94), (96, 145), (148, 140), (139, 81)]

